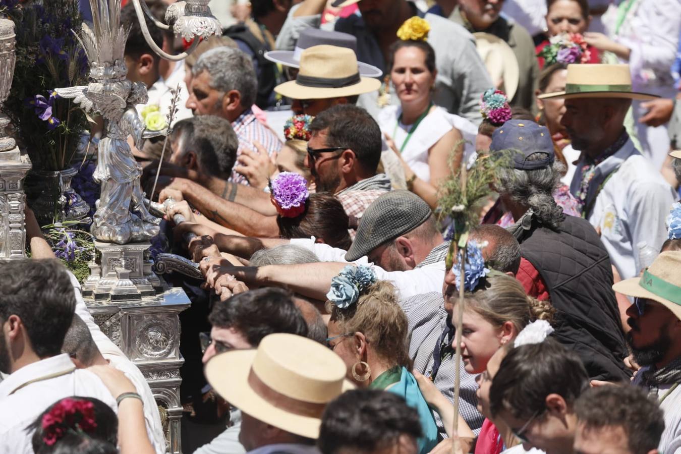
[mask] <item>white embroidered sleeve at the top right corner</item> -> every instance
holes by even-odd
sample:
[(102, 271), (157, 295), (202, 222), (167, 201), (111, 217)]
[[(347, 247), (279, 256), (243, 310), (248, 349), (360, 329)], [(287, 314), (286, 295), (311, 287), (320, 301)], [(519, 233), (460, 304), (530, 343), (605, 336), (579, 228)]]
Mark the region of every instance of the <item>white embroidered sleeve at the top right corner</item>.
[(635, 39), (618, 37), (617, 41), (631, 50), (629, 67), (632, 76), (641, 77), (644, 69), (669, 73), (678, 49), (681, 1), (649, 0), (642, 3), (637, 10), (637, 23), (641, 24), (641, 29), (636, 31)]

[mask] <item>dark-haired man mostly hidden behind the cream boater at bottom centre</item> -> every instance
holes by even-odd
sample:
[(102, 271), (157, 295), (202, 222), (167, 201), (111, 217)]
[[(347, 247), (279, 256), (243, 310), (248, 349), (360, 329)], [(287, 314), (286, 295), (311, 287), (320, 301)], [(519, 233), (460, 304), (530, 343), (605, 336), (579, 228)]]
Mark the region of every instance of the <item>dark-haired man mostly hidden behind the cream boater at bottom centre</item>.
[[(257, 348), (268, 334), (308, 334), (305, 320), (291, 295), (272, 287), (239, 293), (224, 303), (215, 304), (208, 321), (212, 325), (210, 332), (199, 336), (204, 364), (225, 351)], [(245, 453), (238, 441), (240, 429), (241, 412), (232, 408), (229, 411), (229, 427), (194, 454)]]

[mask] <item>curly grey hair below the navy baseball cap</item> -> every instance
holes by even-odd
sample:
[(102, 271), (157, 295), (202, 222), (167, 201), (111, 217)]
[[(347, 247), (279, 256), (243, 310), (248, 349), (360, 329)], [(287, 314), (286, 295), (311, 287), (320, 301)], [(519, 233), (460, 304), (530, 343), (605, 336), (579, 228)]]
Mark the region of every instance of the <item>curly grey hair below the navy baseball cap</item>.
[[(527, 161), (546, 159), (546, 153), (535, 153)], [(553, 193), (565, 173), (565, 164), (556, 160), (550, 167), (535, 170), (502, 168), (497, 172), (496, 191), (520, 206), (532, 208), (537, 221), (557, 229), (563, 222), (563, 208), (556, 205)], [(517, 219), (516, 219), (517, 221)]]

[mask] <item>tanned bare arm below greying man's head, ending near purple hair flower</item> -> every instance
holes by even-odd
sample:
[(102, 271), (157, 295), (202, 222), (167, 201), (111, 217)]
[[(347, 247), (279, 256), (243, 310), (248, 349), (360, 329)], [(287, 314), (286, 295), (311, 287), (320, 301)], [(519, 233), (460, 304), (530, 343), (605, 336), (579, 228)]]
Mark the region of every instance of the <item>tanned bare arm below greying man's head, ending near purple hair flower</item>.
[[(211, 193), (191, 180), (176, 178), (170, 186), (182, 192), (185, 200), (204, 216), (246, 236), (274, 238), (279, 236), (276, 216), (265, 216), (247, 206), (236, 204)], [(163, 195), (159, 198), (163, 202)]]

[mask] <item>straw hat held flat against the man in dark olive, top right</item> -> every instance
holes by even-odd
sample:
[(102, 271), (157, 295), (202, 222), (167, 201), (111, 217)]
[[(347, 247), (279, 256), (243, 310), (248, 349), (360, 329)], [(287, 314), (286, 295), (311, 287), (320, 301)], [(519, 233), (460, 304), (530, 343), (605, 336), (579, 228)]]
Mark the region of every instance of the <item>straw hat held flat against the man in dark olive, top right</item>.
[(513, 99), (520, 82), (520, 67), (513, 49), (503, 39), (491, 33), (480, 31), (473, 33), (473, 36), (477, 53), (484, 61), (492, 82), (496, 84), (496, 81), (503, 80), (503, 85), (497, 88), (506, 93), (508, 99)]

